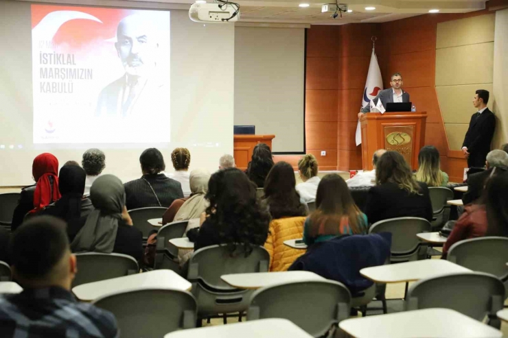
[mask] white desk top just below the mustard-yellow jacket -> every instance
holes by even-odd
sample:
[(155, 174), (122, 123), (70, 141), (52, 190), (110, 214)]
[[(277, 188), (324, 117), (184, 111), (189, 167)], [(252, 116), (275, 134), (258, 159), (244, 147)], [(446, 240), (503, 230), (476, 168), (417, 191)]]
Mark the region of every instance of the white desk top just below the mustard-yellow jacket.
[(253, 274), (229, 274), (220, 276), (224, 282), (238, 289), (259, 289), (269, 285), (302, 282), (308, 280), (326, 280), (310, 271), (255, 272)]

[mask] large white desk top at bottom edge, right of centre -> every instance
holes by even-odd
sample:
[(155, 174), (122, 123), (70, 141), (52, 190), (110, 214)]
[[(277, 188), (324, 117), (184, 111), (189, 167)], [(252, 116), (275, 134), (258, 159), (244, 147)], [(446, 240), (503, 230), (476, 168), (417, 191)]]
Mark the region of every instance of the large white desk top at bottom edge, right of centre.
[(355, 338), (497, 338), (500, 330), (450, 309), (424, 309), (343, 320)]

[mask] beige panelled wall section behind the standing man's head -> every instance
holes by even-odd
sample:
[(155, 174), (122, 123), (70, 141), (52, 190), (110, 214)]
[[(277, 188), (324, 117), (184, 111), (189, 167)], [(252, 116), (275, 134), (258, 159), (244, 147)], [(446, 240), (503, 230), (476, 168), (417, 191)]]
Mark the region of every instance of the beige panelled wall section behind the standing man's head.
[(472, 105), (476, 89), (489, 90), (488, 106), (496, 112), (495, 23), (496, 14), (487, 14), (437, 24), (435, 85), (452, 150), (461, 149), (471, 115), (476, 112)]

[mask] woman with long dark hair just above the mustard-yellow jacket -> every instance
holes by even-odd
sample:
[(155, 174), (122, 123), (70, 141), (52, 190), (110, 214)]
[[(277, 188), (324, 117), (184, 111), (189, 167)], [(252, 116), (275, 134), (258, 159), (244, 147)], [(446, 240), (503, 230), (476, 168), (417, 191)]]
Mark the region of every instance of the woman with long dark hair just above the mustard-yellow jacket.
[(306, 216), (307, 206), (295, 189), (295, 171), (288, 162), (277, 162), (264, 182), (264, 202), (272, 219)]

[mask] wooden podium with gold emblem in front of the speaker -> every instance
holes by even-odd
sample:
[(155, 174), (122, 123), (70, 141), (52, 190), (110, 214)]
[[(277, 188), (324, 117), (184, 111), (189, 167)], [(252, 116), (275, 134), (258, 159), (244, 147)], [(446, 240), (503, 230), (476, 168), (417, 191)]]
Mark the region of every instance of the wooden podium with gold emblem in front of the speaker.
[(412, 170), (418, 168), (418, 153), (425, 145), (426, 112), (367, 112), (362, 128), (362, 167), (372, 170), (377, 149), (399, 152)]

